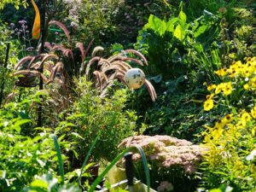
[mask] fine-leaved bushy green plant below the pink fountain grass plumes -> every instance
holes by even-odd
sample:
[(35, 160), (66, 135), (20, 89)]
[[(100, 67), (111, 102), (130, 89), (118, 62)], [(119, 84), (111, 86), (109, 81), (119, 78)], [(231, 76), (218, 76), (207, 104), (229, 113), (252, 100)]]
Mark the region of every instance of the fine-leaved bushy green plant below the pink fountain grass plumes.
[(81, 166), (91, 143), (98, 136), (92, 160), (112, 160), (118, 152), (118, 144), (125, 137), (133, 134), (136, 115), (124, 111), (127, 101), (127, 90), (115, 90), (113, 96), (104, 101), (90, 82), (78, 84), (79, 100), (68, 112), (66, 121), (55, 129), (57, 134), (67, 134), (67, 141), (75, 141), (79, 160), (75, 166)]

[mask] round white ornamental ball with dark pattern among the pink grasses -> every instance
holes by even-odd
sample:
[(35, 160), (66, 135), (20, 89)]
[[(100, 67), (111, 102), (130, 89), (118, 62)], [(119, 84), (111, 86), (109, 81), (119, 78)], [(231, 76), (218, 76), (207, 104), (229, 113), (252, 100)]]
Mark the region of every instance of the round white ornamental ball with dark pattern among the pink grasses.
[(131, 89), (139, 89), (145, 82), (145, 73), (139, 68), (131, 68), (125, 73), (125, 83)]

